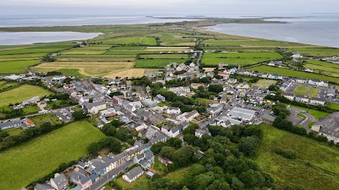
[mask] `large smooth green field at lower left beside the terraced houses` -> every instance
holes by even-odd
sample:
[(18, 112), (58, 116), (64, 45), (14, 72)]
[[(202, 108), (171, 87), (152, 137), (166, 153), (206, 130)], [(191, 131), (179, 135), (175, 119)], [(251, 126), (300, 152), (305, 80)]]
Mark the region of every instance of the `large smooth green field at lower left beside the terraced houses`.
[(89, 122), (79, 121), (1, 152), (1, 189), (20, 189), (44, 177), (60, 163), (85, 156), (88, 144), (103, 137)]

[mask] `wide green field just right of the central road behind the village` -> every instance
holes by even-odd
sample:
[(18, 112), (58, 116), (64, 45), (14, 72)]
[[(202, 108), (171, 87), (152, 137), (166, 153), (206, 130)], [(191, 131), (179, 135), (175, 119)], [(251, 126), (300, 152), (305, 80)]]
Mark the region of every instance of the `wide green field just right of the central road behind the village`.
[(263, 61), (283, 58), (276, 52), (247, 52), (247, 53), (204, 53), (203, 65), (218, 65), (218, 63), (237, 63), (237, 65), (251, 65)]

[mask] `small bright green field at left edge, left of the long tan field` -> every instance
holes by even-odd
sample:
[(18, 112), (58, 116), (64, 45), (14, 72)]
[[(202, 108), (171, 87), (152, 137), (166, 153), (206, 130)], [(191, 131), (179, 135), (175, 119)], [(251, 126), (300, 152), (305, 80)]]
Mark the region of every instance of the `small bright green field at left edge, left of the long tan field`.
[(25, 68), (38, 62), (38, 60), (0, 62), (0, 73), (23, 73)]

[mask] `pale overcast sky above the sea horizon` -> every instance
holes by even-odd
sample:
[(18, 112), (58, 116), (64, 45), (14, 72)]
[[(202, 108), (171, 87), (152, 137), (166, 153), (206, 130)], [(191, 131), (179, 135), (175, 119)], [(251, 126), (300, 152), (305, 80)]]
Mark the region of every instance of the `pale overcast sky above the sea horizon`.
[(338, 0), (1, 0), (0, 15), (282, 15), (338, 7)]

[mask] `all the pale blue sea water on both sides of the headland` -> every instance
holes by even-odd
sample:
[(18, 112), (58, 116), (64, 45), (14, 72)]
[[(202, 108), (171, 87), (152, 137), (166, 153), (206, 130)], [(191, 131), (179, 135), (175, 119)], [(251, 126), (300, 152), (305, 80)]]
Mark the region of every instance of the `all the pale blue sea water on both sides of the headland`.
[[(154, 17), (153, 17), (154, 16)], [(51, 27), (71, 25), (129, 25), (172, 23), (185, 15), (16, 15), (0, 16), (0, 27)], [(222, 24), (203, 27), (205, 30), (244, 37), (275, 39), (339, 48), (339, 13), (309, 13), (298, 15), (207, 15), (220, 18), (262, 18), (286, 24)], [(180, 19), (168, 19), (181, 17)], [(280, 17), (280, 18), (272, 18)], [(90, 39), (99, 33), (81, 32), (0, 32), (0, 45), (33, 44)]]

